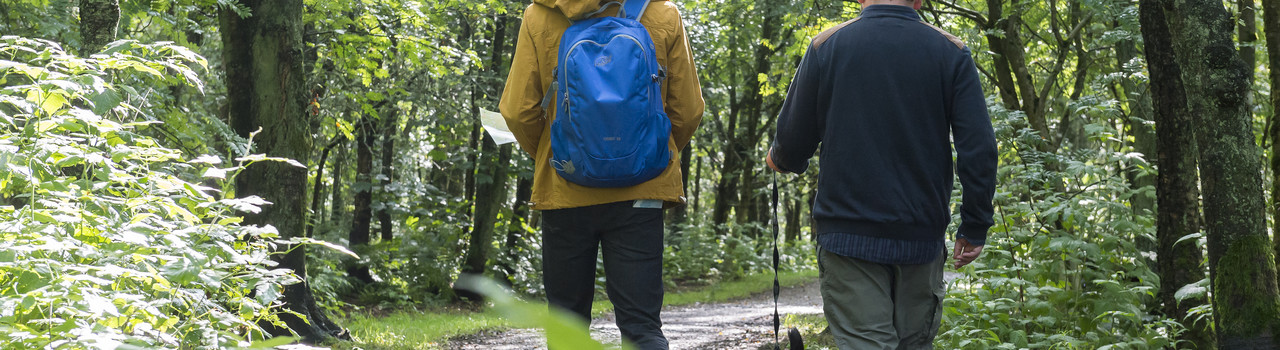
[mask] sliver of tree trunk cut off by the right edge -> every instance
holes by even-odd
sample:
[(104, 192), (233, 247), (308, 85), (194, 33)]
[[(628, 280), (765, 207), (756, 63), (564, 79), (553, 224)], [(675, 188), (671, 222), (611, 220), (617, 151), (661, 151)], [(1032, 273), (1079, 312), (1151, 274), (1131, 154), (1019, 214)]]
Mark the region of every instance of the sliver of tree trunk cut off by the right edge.
[(1262, 0), (1262, 26), (1267, 40), (1267, 77), (1271, 81), (1271, 232), (1275, 235), (1276, 269), (1280, 271), (1280, 1)]

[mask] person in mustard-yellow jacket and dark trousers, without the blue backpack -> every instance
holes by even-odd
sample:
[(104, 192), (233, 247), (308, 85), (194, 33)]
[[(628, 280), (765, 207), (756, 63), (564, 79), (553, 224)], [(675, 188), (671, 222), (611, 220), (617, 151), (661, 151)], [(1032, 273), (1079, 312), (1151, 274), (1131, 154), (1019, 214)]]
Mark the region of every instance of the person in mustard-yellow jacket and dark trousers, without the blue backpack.
[[(632, 0), (635, 1), (635, 0)], [(663, 208), (685, 203), (680, 153), (689, 146), (703, 114), (692, 53), (669, 1), (652, 1), (640, 18), (666, 68), (663, 110), (671, 119), (666, 171), (644, 183), (599, 188), (571, 183), (552, 168), (550, 124), (561, 36), (571, 21), (600, 9), (599, 0), (534, 0), (525, 10), (516, 55), (499, 105), (520, 147), (534, 159), (532, 208), (543, 210), (543, 286), (550, 305), (590, 317), (596, 250), (603, 247), (607, 292), (618, 329), (639, 349), (667, 349), (662, 335)], [(611, 6), (596, 15), (616, 15)]]

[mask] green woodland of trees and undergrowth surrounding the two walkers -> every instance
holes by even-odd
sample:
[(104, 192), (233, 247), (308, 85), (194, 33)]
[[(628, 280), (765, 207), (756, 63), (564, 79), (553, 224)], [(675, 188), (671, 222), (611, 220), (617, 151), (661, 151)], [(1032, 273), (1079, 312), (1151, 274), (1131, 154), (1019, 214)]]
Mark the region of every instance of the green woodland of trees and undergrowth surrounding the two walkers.
[[(809, 38), (860, 6), (676, 3), (707, 110), (666, 281), (768, 271), (773, 218), (814, 268), (817, 169), (774, 212), (762, 160)], [(925, 1), (1001, 150), (937, 346), (1275, 349), (1277, 3)], [(465, 273), (536, 299), (530, 159), (480, 126), (527, 5), (0, 0), (3, 347), (324, 341)]]

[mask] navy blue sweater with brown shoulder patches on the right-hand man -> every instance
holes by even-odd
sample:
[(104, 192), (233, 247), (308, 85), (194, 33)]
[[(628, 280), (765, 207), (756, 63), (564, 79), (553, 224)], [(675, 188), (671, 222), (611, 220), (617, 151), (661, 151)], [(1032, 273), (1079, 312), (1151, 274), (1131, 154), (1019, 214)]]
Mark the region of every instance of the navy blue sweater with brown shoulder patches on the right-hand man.
[(959, 173), (957, 233), (986, 241), (997, 150), (978, 72), (959, 38), (911, 8), (867, 6), (809, 45), (772, 158), (801, 173), (819, 145), (819, 235), (941, 240)]

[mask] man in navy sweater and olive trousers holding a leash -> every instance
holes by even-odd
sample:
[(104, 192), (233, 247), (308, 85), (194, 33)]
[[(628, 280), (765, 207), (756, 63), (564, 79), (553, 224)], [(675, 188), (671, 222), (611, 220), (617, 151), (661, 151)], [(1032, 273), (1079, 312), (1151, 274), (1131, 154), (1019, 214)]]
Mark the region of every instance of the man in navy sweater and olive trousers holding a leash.
[(992, 226), (997, 150), (982, 83), (969, 47), (924, 23), (920, 1), (860, 0), (860, 17), (814, 37), (765, 159), (803, 173), (822, 146), (813, 218), (840, 349), (933, 347), (956, 173), (955, 268), (978, 258)]

